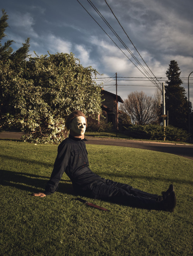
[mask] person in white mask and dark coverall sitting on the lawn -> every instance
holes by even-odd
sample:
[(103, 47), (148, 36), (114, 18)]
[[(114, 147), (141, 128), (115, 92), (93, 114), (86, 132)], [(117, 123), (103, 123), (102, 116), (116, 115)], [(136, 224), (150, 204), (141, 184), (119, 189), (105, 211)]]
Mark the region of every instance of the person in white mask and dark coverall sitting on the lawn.
[(82, 196), (149, 210), (174, 210), (176, 196), (172, 184), (166, 192), (162, 192), (162, 196), (158, 196), (134, 189), (127, 184), (103, 179), (91, 172), (84, 142), (86, 126), (86, 116), (79, 110), (67, 117), (69, 137), (58, 146), (58, 155), (45, 192), (35, 193), (33, 196), (44, 197), (54, 193), (65, 172), (71, 179), (74, 190)]

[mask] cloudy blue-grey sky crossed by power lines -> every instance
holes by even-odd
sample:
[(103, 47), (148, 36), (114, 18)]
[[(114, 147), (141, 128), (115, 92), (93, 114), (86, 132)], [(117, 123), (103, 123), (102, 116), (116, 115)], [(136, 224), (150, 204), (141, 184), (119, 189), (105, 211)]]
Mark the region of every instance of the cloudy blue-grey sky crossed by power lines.
[[(115, 93), (113, 77), (117, 72), (118, 94), (123, 100), (132, 91), (144, 91), (148, 96), (153, 96), (156, 91), (154, 83), (147, 78), (125, 77), (157, 77), (162, 83), (166, 80), (170, 61), (176, 60), (188, 97), (187, 77), (193, 71), (192, 0), (106, 1), (124, 30), (105, 0), (79, 0), (102, 28), (77, 0), (3, 1), (1, 7), (9, 15), (6, 40), (14, 40), (12, 48), (17, 50), (29, 37), (32, 56), (34, 51), (37, 55), (47, 54), (47, 51), (73, 52), (84, 67), (91, 65), (103, 74), (98, 75), (97, 83), (103, 80), (104, 89), (112, 93)], [(91, 3), (127, 49), (102, 21)], [(190, 101), (193, 102), (193, 80), (190, 80)]]

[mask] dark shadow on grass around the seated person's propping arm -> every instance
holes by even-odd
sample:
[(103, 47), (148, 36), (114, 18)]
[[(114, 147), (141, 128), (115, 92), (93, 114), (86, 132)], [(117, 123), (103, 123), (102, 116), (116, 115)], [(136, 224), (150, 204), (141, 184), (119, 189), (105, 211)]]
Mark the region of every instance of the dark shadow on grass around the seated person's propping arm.
[[(0, 184), (2, 186), (15, 187), (30, 193), (43, 192), (49, 177), (24, 172), (12, 172), (8, 170), (0, 170)], [(74, 194), (71, 180), (61, 179), (58, 192), (66, 194)], [(40, 191), (42, 189), (42, 191)]]

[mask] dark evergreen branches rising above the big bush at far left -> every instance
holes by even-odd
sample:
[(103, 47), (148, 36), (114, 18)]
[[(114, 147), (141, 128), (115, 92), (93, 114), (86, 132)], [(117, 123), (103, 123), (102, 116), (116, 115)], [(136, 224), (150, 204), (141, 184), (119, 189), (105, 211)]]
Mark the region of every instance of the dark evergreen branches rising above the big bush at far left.
[(21, 61), (25, 60), (26, 57), (29, 57), (27, 53), (29, 52), (29, 40), (30, 38), (27, 38), (25, 40), (25, 43), (23, 43), (23, 46), (20, 47), (16, 52), (13, 52), (13, 49), (11, 47), (12, 43), (14, 43), (14, 40), (7, 40), (7, 42), (2, 45), (1, 41), (3, 38), (5, 38), (7, 35), (5, 34), (5, 30), (8, 27), (8, 15), (5, 12), (4, 9), (2, 9), (2, 17), (0, 18), (0, 60), (6, 60), (10, 58), (11, 60), (15, 61)]

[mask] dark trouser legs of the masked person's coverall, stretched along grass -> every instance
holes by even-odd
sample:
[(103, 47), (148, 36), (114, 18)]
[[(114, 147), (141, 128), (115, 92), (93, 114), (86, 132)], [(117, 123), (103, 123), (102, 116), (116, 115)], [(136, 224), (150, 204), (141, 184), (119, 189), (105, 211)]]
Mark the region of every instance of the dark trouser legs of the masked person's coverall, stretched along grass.
[(102, 199), (113, 203), (127, 206), (144, 208), (149, 210), (162, 209), (162, 197), (157, 194), (150, 194), (130, 185), (114, 182), (109, 179), (102, 179), (84, 187), (82, 194), (87, 197)]

